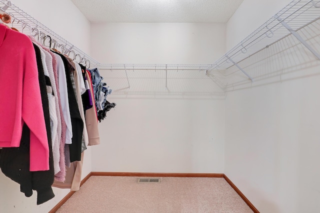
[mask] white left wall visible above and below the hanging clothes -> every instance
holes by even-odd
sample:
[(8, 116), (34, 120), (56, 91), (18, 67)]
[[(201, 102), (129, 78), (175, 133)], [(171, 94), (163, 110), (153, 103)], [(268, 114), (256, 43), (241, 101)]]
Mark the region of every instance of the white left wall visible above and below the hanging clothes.
[[(69, 0), (13, 0), (19, 8), (70, 41), (89, 52), (90, 23)], [(85, 151), (82, 177), (91, 171), (91, 148)], [(53, 187), (55, 197), (36, 205), (36, 192), (25, 197), (19, 185), (0, 172), (0, 212), (48, 212), (68, 192), (68, 189)]]

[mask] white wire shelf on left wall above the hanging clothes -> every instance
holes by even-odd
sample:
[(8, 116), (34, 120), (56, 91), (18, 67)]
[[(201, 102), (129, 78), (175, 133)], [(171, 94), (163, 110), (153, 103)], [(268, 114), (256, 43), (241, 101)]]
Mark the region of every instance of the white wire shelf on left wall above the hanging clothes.
[[(45, 35), (49, 35), (52, 40), (54, 40), (59, 45), (62, 45), (65, 47), (65, 51), (63, 53), (68, 53), (71, 50), (75, 52), (76, 54), (81, 55), (81, 58), (86, 58), (87, 63), (89, 63), (92, 67), (98, 67), (100, 64), (97, 60), (95, 60), (93, 57), (86, 54), (84, 51), (79, 49), (78, 47), (74, 46), (72, 43), (46, 27), (44, 24), (37, 21), (35, 18), (24, 12), (22, 9), (14, 5), (9, 0), (0, 0), (0, 10), (3, 12), (8, 13), (11, 15), (12, 19), (24, 21), (26, 24), (29, 24), (32, 28), (37, 29), (41, 33)], [(89, 62), (88, 62), (89, 61)]]

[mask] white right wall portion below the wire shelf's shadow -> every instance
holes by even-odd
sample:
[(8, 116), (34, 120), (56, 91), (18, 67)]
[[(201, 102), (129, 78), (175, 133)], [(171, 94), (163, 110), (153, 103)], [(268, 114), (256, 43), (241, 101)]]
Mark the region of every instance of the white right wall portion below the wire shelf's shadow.
[(316, 75), (227, 95), (225, 174), (260, 212), (320, 211), (319, 81)]

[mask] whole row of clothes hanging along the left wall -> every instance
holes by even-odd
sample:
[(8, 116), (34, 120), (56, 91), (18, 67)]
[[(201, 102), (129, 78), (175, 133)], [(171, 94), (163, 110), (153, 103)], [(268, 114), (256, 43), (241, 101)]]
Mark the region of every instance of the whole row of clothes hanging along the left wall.
[(37, 204), (54, 197), (51, 186), (78, 190), (84, 150), (100, 143), (98, 114), (112, 90), (97, 69), (94, 91), (85, 66), (2, 24), (0, 52), (3, 174), (25, 196), (37, 191)]

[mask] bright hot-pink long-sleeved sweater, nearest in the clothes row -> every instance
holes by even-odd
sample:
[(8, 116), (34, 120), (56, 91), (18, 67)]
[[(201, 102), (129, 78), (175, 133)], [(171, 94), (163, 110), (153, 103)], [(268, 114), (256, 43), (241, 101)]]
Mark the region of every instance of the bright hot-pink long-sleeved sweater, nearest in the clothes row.
[(18, 147), (30, 128), (30, 171), (49, 169), (35, 52), (24, 34), (0, 24), (0, 147)]

